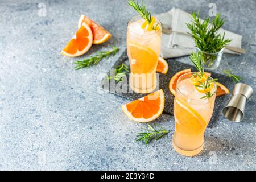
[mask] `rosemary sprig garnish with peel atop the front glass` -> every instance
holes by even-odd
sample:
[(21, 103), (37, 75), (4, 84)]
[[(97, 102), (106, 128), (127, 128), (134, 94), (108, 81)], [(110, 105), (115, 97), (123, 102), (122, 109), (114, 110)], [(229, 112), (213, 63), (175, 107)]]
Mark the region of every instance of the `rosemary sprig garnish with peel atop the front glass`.
[[(192, 63), (195, 65), (198, 73), (193, 73), (191, 75), (191, 77), (197, 77), (199, 76), (200, 78), (203, 78), (204, 76), (204, 63), (201, 59), (201, 53), (196, 52), (196, 53), (192, 53), (192, 55), (189, 56), (189, 59), (192, 61)], [(201, 88), (203, 90), (210, 88), (210, 86), (212, 86), (212, 82), (217, 81), (217, 79), (212, 79), (209, 76), (207, 76), (207, 79), (204, 82), (200, 82), (199, 80), (197, 82), (199, 82), (199, 85), (195, 85), (197, 88)], [(215, 91), (216, 92), (216, 91)], [(210, 98), (212, 97), (214, 93), (211, 93), (210, 91), (205, 93), (205, 96), (201, 97), (201, 99), (204, 98)]]

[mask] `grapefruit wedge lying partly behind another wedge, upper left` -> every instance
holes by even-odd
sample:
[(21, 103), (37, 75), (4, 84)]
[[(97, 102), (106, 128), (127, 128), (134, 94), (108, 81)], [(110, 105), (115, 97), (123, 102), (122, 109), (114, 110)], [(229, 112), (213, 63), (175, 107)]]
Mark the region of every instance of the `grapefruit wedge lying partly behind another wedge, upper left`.
[(89, 19), (85, 15), (81, 15), (79, 18), (78, 27), (80, 28), (82, 23), (85, 22), (89, 25), (93, 32), (93, 44), (101, 44), (106, 42), (112, 35), (106, 31), (99, 24), (93, 22), (93, 20)]

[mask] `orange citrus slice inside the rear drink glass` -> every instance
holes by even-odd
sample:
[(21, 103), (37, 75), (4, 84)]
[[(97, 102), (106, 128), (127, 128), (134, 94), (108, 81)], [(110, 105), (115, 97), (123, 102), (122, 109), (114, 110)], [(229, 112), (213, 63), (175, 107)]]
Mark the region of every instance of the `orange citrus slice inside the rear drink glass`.
[(158, 63), (158, 56), (152, 49), (129, 42), (132, 73), (151, 73)]

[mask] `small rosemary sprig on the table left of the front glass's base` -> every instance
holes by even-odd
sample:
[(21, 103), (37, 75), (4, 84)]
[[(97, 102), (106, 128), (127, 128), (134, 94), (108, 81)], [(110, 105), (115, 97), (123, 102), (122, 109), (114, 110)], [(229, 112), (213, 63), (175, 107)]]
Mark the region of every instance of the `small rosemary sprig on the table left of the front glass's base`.
[(159, 140), (160, 138), (162, 138), (164, 135), (166, 135), (167, 133), (169, 133), (169, 130), (164, 129), (161, 126), (155, 125), (159, 127), (159, 130), (154, 129), (154, 127), (152, 127), (151, 125), (147, 124), (149, 129), (144, 129), (148, 132), (145, 133), (139, 133), (137, 135), (137, 137), (139, 137), (136, 141), (142, 141), (145, 144), (148, 144), (151, 140), (155, 139), (155, 140)]

